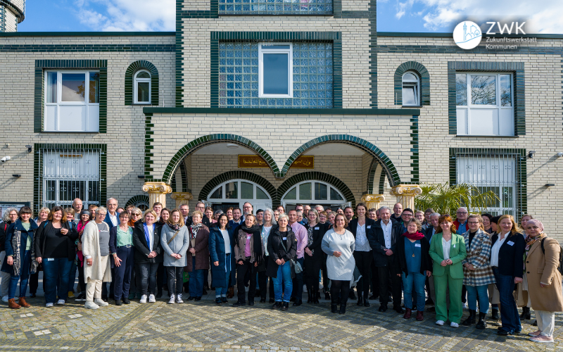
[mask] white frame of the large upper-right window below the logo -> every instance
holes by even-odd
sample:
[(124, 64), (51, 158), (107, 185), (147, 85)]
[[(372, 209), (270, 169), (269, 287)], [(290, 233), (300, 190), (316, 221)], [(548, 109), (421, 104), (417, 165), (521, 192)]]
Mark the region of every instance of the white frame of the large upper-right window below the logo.
[[(486, 134), (486, 135), (491, 135), (491, 136), (514, 136), (514, 75), (511, 72), (459, 72), (459, 73), (455, 73), (456, 75), (466, 75), (466, 84), (467, 84), (467, 105), (464, 106), (458, 106), (457, 105), (457, 101), (455, 103), (455, 111), (456, 111), (456, 120), (457, 120), (457, 134), (458, 135), (462, 135), (462, 136), (472, 136), (472, 135), (483, 135), (482, 133), (479, 134), (472, 134), (471, 130), (472, 130), (472, 111), (476, 111), (479, 109), (497, 109), (498, 110), (498, 124), (500, 126), (500, 124), (502, 123), (500, 121), (500, 115), (501, 115), (501, 111), (505, 110), (505, 111), (511, 111), (511, 118), (510, 118), (510, 122), (512, 123), (512, 126), (509, 126), (508, 132), (507, 133), (500, 133), (500, 127), (499, 127), (499, 131), (498, 133), (494, 133), (494, 131), (491, 131), (491, 134)], [(510, 75), (510, 106), (502, 106), (502, 101), (501, 101), (501, 94), (500, 94), (500, 75)], [(472, 104), (472, 96), (471, 96), (471, 76), (496, 76), (496, 104), (495, 105), (481, 105), (481, 104)], [(463, 120), (460, 120), (460, 116), (458, 114), (459, 111), (466, 111), (465, 116), (467, 116), (466, 120), (467, 122), (464, 123), (460, 123), (460, 122), (464, 122)]]

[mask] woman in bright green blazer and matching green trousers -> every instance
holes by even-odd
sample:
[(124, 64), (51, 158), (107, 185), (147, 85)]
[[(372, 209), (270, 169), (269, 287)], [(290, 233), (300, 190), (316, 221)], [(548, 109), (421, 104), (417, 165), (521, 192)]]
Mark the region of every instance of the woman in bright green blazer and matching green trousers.
[(462, 260), (467, 256), (463, 236), (455, 233), (455, 226), (450, 215), (442, 215), (438, 220), (440, 227), (430, 243), (430, 257), (434, 260), (432, 275), (436, 290), (436, 325), (444, 325), (448, 320), (448, 304), (445, 291), (450, 289), (450, 326), (460, 327), (463, 315)]

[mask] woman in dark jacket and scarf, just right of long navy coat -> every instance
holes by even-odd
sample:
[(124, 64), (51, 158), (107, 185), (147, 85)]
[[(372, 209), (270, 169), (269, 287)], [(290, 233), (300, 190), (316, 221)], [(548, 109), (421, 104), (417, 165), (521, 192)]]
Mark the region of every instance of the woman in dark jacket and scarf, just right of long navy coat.
[(243, 224), (237, 227), (238, 233), (234, 234), (234, 259), (236, 260), (236, 288), (238, 289), (238, 300), (233, 307), (245, 306), (244, 276), (246, 272), (250, 275), (250, 287), (248, 288), (248, 306), (254, 306), (256, 293), (256, 274), (258, 265), (264, 260), (264, 244), (260, 234), (260, 226), (256, 225), (253, 214), (246, 215)]

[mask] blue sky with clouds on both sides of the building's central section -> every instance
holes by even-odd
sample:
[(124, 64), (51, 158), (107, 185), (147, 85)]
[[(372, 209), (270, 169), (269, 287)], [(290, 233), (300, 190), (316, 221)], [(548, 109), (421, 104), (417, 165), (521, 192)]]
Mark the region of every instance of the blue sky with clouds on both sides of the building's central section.
[[(175, 0), (27, 0), (19, 31), (173, 31)], [(378, 0), (379, 32), (452, 32), (461, 20), (563, 33), (562, 0)]]

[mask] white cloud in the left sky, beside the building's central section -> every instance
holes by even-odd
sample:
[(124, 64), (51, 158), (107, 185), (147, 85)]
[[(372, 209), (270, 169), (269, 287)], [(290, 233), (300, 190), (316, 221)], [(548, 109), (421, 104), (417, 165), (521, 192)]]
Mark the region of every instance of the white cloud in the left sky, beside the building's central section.
[(77, 17), (93, 30), (174, 31), (175, 0), (75, 0)]

